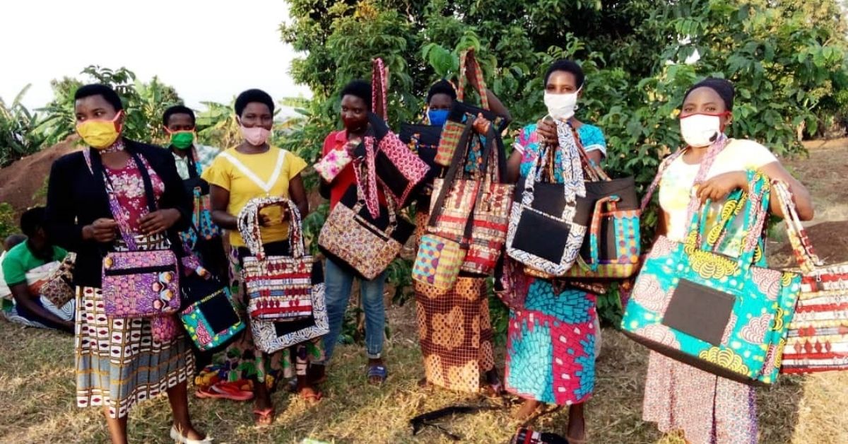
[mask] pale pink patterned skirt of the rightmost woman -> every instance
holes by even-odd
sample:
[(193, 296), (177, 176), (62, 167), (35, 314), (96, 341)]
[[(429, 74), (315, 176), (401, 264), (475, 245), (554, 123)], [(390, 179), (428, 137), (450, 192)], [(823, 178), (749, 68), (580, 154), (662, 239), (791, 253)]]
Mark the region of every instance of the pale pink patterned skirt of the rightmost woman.
[(642, 419), (657, 423), (663, 433), (683, 430), (692, 444), (756, 444), (753, 387), (654, 351), (648, 360), (643, 408)]

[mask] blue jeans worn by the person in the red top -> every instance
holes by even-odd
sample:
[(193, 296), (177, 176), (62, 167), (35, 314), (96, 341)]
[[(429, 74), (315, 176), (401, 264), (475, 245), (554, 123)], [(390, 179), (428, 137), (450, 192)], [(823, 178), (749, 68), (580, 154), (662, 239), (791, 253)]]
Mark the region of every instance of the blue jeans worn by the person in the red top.
[[(338, 344), (342, 333), (344, 312), (350, 301), (350, 291), (356, 275), (348, 268), (339, 266), (331, 259), (326, 260), (324, 283), (326, 284), (326, 313), (330, 322), (330, 333), (324, 336), (326, 360), (332, 357), (332, 349)], [(383, 330), (386, 327), (386, 307), (383, 303), (382, 289), (386, 283), (386, 272), (370, 281), (360, 279), (362, 308), (365, 310), (365, 350), (369, 359), (377, 359), (382, 353)]]

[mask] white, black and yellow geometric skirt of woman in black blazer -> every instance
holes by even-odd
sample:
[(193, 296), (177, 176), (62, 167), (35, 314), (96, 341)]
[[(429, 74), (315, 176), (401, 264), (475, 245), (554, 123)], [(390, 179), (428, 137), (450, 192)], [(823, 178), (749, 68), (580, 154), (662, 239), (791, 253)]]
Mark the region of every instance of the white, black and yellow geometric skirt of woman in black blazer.
[[(138, 244), (167, 248), (164, 236)], [(194, 356), (183, 334), (159, 342), (150, 319), (106, 318), (100, 289), (77, 287), (75, 321), (78, 407), (107, 406), (110, 417), (123, 418), (137, 402), (192, 377)]]

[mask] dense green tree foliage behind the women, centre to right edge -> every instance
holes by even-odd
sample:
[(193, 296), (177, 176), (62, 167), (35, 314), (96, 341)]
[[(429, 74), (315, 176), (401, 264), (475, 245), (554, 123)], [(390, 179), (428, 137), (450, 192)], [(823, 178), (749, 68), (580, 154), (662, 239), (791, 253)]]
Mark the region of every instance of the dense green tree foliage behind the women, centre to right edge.
[[(604, 130), (605, 167), (643, 188), (678, 148), (678, 105), (703, 77), (737, 87), (731, 135), (778, 155), (801, 152), (803, 126), (817, 132), (848, 103), (846, 26), (834, 0), (288, 3), (292, 20), (281, 26), (282, 39), (305, 54), (292, 75), (315, 94), (288, 143), (310, 161), (338, 126), (338, 90), (370, 77), (376, 57), (391, 73), (389, 118), (397, 126), (421, 114), (432, 81), (455, 79), (461, 50), (476, 48), (488, 86), (514, 117), (510, 136), (544, 114), (550, 62), (576, 59), (587, 75), (577, 117)], [(687, 63), (695, 53), (700, 59)], [(652, 239), (656, 211), (644, 221), (644, 239)], [(616, 291), (600, 297), (608, 321), (620, 312), (617, 298)]]

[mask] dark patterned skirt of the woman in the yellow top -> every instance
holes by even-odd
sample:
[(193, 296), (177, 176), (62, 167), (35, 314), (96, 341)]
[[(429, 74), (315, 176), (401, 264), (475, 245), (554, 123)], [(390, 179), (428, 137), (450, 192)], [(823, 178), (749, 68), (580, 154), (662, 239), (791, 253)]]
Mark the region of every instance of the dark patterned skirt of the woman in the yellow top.
[[(269, 254), (274, 254), (273, 251), (268, 251), (270, 251)], [(231, 248), (229, 258), (233, 299), (238, 315), (248, 323), (248, 326), (237, 340), (227, 346), (223, 357), (215, 360), (218, 363), (217, 367), (223, 369), (227, 380), (264, 380), (269, 385), (275, 384), (280, 378), (304, 376), (311, 362), (324, 360), (322, 338), (301, 342), (274, 353), (259, 351), (254, 344), (254, 335), (249, 325), (248, 301), (245, 299), (244, 285), (241, 283), (242, 267), (236, 248)]]

